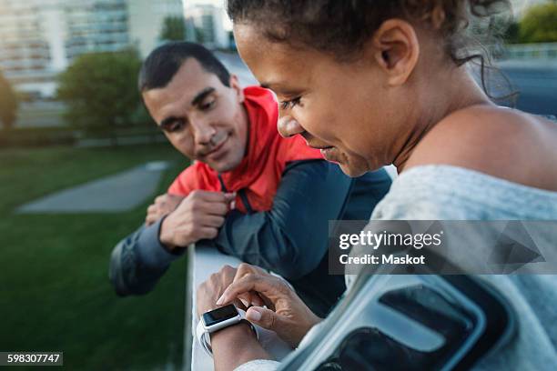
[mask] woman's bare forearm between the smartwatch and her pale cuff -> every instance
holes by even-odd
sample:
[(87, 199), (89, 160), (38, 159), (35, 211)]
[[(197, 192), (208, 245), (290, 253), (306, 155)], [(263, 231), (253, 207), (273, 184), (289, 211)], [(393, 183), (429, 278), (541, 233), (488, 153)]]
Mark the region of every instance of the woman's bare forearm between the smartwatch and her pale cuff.
[(271, 359), (248, 324), (238, 324), (211, 334), (215, 370), (228, 371), (254, 359)]

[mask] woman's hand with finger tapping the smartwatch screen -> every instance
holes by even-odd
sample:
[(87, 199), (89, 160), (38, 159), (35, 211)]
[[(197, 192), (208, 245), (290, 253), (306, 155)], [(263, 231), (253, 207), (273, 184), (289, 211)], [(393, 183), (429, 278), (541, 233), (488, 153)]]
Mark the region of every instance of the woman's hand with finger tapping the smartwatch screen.
[(249, 307), (248, 320), (276, 332), (292, 347), (298, 346), (309, 329), (321, 321), (283, 279), (256, 266), (238, 266), (234, 281), (224, 290), (217, 305), (224, 306), (240, 298), (248, 304), (257, 304), (262, 299), (267, 308)]

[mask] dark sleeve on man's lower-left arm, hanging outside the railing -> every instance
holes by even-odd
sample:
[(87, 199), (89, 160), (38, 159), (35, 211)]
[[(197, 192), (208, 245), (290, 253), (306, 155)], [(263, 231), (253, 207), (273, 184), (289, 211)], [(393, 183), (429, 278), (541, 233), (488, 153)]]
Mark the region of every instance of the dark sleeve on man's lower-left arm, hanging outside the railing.
[(158, 235), (163, 219), (151, 226), (139, 227), (112, 251), (108, 276), (117, 295), (141, 295), (151, 291), (170, 263), (184, 253), (184, 248), (171, 253), (160, 243)]

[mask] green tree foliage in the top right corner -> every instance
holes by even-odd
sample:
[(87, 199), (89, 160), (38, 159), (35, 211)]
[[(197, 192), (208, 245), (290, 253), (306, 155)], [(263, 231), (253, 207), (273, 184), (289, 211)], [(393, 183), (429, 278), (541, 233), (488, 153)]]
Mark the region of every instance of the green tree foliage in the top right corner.
[(557, 42), (557, 2), (532, 6), (522, 18), (522, 43)]

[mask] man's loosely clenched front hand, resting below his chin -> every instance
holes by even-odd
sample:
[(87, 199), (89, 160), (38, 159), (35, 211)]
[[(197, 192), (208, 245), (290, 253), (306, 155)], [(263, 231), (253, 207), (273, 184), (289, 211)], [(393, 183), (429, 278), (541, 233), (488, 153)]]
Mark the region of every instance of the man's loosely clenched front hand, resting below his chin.
[(196, 190), (168, 214), (160, 227), (160, 242), (173, 250), (204, 238), (215, 238), (235, 194)]

